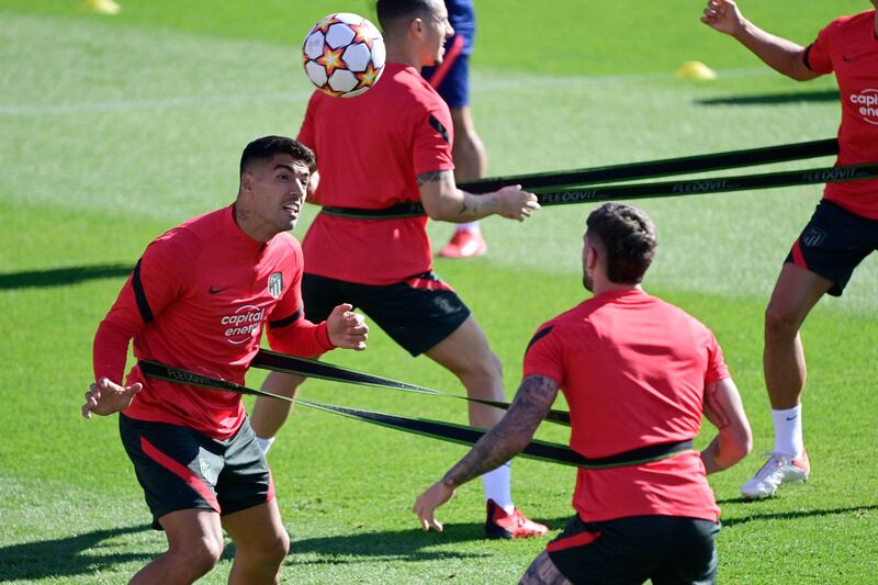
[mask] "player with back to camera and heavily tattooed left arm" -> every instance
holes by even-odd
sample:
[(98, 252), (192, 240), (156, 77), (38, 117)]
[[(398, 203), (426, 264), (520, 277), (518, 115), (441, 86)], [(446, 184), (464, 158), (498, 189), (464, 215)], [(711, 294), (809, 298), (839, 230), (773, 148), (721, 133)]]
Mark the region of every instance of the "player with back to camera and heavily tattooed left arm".
[[(561, 389), (571, 448), (630, 463), (577, 471), (576, 515), (521, 583), (716, 581), (719, 508), (706, 475), (746, 455), (750, 424), (713, 334), (643, 291), (655, 245), (637, 207), (588, 216), (583, 284), (594, 295), (537, 329), (506, 416), (415, 502), (425, 530), (442, 530), (435, 510), (458, 486), (527, 447)], [(719, 432), (699, 453), (702, 413)]]

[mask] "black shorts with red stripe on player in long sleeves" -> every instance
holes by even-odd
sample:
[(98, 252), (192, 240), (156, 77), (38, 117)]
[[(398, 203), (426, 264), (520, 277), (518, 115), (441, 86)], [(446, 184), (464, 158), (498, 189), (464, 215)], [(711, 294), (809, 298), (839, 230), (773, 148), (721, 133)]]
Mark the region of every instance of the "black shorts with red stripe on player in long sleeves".
[(157, 530), (161, 530), (158, 519), (171, 511), (212, 509), (226, 515), (274, 497), (271, 473), (249, 419), (222, 441), (188, 427), (123, 414), (119, 432)]

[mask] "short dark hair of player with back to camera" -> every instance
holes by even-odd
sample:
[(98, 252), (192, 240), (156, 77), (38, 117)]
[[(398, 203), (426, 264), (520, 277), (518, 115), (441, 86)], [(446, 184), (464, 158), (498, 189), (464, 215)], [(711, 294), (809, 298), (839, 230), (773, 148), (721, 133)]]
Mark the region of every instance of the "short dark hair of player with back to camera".
[(588, 235), (607, 251), (607, 278), (617, 284), (637, 284), (650, 268), (658, 243), (646, 212), (623, 203), (605, 203), (588, 215)]

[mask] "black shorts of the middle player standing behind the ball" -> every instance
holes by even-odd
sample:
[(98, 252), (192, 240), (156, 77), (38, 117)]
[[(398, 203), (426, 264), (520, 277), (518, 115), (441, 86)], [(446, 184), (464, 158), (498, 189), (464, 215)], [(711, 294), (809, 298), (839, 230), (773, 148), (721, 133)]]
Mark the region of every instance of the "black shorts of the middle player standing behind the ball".
[(454, 290), (432, 272), (376, 286), (305, 273), (305, 315), (325, 320), (337, 305), (350, 303), (413, 356), (419, 356), (454, 333), (470, 316)]

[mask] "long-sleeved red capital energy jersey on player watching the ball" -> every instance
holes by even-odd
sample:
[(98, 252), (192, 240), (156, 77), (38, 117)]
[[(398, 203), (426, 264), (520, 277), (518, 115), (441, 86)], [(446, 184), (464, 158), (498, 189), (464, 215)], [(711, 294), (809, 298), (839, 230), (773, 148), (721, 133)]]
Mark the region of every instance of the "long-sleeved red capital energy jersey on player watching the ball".
[[(302, 249), (290, 234), (267, 243), (245, 234), (228, 206), (191, 220), (144, 251), (94, 336), (94, 378), (120, 384), (128, 341), (154, 360), (238, 384), (269, 322), (271, 347), (316, 356), (333, 348), (326, 324), (305, 320)], [(146, 379), (125, 415), (171, 423), (216, 439), (244, 421), (240, 395)]]

